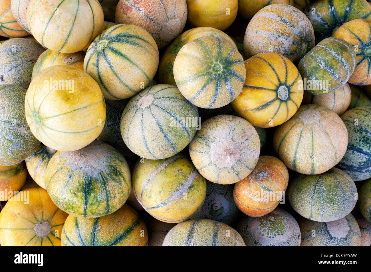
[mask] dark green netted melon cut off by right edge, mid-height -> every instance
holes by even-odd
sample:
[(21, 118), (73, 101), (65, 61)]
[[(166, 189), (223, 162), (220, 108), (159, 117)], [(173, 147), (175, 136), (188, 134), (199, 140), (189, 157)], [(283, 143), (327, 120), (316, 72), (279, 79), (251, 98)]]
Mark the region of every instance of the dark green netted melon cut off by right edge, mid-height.
[(348, 148), (337, 165), (353, 181), (371, 178), (371, 107), (357, 107), (341, 115), (348, 130)]

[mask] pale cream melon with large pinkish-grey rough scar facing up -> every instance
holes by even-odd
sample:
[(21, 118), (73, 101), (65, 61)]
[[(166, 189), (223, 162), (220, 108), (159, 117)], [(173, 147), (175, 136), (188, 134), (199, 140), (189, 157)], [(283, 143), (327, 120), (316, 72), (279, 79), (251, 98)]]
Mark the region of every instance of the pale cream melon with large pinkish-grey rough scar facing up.
[(217, 115), (201, 124), (189, 152), (204, 178), (219, 184), (233, 184), (253, 171), (259, 159), (259, 135), (243, 118)]

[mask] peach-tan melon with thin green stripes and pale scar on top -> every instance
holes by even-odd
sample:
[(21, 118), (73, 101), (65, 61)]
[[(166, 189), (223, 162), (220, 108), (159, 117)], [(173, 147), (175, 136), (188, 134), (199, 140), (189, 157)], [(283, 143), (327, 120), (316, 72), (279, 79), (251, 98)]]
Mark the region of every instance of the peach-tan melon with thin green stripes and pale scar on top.
[(301, 174), (321, 174), (347, 151), (348, 131), (341, 118), (318, 105), (301, 105), (273, 135), (273, 147), (285, 165)]

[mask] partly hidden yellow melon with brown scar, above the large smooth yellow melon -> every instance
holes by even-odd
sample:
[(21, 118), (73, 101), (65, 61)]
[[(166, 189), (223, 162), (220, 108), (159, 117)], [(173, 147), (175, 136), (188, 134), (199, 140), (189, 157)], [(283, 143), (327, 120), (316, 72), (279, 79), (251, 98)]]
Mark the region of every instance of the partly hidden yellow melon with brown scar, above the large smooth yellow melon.
[(84, 57), (83, 51), (65, 54), (48, 49), (39, 56), (33, 66), (32, 79), (45, 68), (55, 65), (67, 65), (84, 70)]

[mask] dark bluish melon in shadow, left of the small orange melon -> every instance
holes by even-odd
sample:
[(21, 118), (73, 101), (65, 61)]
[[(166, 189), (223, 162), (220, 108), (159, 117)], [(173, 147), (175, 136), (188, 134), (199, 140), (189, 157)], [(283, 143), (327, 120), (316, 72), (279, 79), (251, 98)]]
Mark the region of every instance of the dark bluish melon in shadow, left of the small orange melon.
[(234, 226), (242, 213), (233, 200), (233, 184), (206, 181), (206, 198), (200, 211), (192, 219), (211, 219)]

